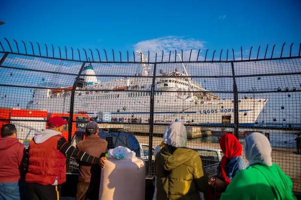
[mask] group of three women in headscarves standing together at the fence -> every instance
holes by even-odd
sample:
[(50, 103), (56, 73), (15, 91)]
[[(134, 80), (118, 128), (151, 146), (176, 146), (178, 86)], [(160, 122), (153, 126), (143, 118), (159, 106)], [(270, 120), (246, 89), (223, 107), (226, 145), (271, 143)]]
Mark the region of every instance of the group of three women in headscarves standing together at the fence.
[[(155, 194), (158, 199), (296, 199), (292, 181), (272, 163), (271, 145), (262, 133), (253, 132), (242, 145), (227, 133), (219, 139), (224, 156), (216, 177), (208, 178), (197, 152), (187, 148), (186, 128), (170, 124), (155, 148)], [(213, 191), (214, 190), (214, 191)]]

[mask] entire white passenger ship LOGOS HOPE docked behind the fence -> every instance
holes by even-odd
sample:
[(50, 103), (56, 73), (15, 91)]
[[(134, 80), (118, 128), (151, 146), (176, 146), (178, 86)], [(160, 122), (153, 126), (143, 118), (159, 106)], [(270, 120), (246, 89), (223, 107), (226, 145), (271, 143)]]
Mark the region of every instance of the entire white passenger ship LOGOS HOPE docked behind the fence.
[[(108, 82), (98, 81), (93, 66), (87, 65), (82, 73), (84, 87), (77, 88), (79, 90), (75, 93), (74, 112), (86, 111), (90, 117), (108, 113), (111, 117), (108, 121), (147, 123), (152, 78), (141, 77), (151, 76), (149, 73), (151, 66), (146, 61), (147, 57), (142, 55), (141, 75)], [(178, 68), (168, 72), (160, 70), (161, 77), (156, 78), (155, 82), (157, 92), (154, 102), (154, 122), (171, 123), (179, 120), (183, 123), (207, 125), (234, 123), (233, 99), (221, 99), (218, 95), (203, 89), (192, 78), (185, 77), (189, 75), (184, 64), (182, 67), (183, 73)], [(70, 108), (71, 89), (72, 87), (57, 90), (35, 89), (28, 108), (67, 113)], [(253, 125), (266, 102), (267, 99), (240, 98), (239, 123)]]

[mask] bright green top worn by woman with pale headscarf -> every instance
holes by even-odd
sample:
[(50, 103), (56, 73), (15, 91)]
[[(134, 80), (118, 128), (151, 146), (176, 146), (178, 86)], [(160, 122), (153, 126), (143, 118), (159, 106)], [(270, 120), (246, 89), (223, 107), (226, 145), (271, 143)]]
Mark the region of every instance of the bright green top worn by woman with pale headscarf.
[(235, 175), (220, 200), (293, 200), (291, 189), (290, 177), (278, 165), (252, 164)]

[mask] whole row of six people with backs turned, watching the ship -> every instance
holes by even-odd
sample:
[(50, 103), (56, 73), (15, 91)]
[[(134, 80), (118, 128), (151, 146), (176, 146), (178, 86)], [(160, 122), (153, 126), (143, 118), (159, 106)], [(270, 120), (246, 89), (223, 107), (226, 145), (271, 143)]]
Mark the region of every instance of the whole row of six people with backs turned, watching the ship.
[[(13, 124), (1, 128), (0, 199), (60, 199), (66, 181), (66, 156), (79, 163), (76, 199), (98, 199), (101, 168), (105, 167), (107, 142), (98, 136), (98, 124), (86, 125), (86, 138), (72, 146), (62, 130), (67, 121), (49, 120), (49, 129), (35, 133), (26, 149), (17, 139)], [(272, 163), (272, 148), (266, 136), (254, 132), (242, 145), (230, 133), (219, 139), (224, 154), (218, 173), (209, 179), (198, 152), (187, 147), (186, 127), (169, 125), (155, 148), (155, 193), (153, 199), (296, 199), (292, 181)]]

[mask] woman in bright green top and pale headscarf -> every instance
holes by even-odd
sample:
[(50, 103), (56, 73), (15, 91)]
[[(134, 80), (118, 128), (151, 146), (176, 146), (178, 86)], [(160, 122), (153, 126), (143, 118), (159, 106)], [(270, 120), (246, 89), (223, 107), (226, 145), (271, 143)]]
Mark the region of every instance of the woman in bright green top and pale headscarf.
[(266, 136), (258, 132), (249, 134), (244, 141), (249, 166), (235, 175), (220, 200), (296, 199), (290, 177), (272, 163), (271, 152)]

